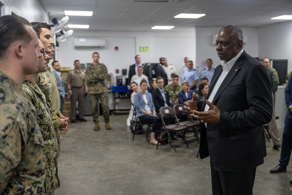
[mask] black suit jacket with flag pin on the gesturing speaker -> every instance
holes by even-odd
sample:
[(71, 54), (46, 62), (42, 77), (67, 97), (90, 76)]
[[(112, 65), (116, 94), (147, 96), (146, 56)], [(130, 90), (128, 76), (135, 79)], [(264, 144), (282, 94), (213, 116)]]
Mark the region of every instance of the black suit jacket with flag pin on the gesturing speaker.
[[(211, 80), (218, 80), (219, 65)], [(272, 87), (265, 67), (244, 51), (221, 83), (213, 104), (220, 110), (220, 123), (201, 124), (200, 158), (210, 155), (218, 171), (244, 172), (264, 163), (263, 125), (272, 119)], [(206, 101), (201, 110), (204, 111)]]

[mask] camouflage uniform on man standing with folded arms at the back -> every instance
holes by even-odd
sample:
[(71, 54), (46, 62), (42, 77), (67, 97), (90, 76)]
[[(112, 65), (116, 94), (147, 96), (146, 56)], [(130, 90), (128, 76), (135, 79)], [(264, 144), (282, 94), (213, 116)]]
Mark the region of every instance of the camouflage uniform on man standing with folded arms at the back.
[(109, 122), (109, 98), (107, 95), (107, 87), (105, 85), (106, 78), (107, 67), (104, 64), (88, 64), (86, 69), (86, 79), (88, 81), (87, 93), (89, 94), (91, 115), (94, 123), (99, 122), (98, 98), (100, 98), (104, 121)]

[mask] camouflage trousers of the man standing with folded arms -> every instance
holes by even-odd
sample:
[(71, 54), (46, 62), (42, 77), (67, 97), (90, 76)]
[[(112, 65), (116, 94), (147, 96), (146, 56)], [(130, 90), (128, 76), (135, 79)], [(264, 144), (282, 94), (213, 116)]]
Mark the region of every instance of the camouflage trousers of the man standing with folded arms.
[(99, 122), (98, 119), (98, 98), (101, 102), (103, 119), (105, 122), (109, 122), (109, 98), (107, 93), (102, 94), (89, 94), (89, 102), (91, 105), (91, 115), (93, 118), (93, 122)]

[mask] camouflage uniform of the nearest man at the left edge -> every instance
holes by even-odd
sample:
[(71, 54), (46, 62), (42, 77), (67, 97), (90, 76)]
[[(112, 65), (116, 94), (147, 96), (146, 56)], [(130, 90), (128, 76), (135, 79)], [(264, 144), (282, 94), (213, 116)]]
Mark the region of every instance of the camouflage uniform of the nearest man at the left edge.
[(44, 140), (35, 108), (0, 72), (0, 194), (45, 194)]

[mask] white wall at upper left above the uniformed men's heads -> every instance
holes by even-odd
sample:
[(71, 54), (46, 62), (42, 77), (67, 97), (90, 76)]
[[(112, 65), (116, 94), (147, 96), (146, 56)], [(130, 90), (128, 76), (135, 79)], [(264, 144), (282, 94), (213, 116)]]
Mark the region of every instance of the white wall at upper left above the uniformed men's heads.
[(19, 15), (29, 22), (49, 22), (46, 10), (38, 0), (0, 0), (2, 15), (11, 15), (11, 12)]

